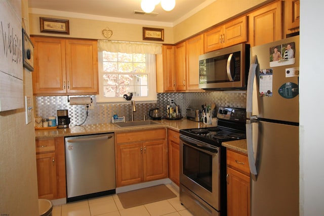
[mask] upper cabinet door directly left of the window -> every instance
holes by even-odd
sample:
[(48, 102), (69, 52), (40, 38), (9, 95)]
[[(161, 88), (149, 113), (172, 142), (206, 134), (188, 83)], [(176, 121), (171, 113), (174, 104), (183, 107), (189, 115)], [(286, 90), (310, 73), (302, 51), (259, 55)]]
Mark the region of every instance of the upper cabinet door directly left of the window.
[(96, 40), (65, 42), (68, 93), (98, 92), (98, 48)]

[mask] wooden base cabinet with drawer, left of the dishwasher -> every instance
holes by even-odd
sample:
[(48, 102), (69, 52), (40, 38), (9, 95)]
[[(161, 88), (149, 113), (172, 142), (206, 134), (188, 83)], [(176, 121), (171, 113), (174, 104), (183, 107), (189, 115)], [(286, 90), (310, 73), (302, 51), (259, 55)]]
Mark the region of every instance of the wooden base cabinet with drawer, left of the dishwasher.
[(66, 197), (64, 137), (36, 139), (38, 198)]

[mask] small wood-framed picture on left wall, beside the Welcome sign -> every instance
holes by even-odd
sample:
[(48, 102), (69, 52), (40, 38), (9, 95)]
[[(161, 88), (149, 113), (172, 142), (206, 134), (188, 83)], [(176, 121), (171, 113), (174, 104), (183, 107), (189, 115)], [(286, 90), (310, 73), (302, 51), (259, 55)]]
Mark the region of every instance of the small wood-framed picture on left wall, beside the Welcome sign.
[(22, 58), (23, 65), (30, 71), (34, 70), (34, 46), (26, 33), (25, 29), (22, 29)]

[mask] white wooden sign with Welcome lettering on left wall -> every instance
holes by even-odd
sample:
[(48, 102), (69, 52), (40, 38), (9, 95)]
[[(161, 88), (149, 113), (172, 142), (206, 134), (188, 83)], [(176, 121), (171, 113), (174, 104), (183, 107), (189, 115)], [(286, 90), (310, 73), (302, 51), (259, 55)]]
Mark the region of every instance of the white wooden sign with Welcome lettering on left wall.
[(0, 0), (0, 112), (24, 107), (21, 1)]

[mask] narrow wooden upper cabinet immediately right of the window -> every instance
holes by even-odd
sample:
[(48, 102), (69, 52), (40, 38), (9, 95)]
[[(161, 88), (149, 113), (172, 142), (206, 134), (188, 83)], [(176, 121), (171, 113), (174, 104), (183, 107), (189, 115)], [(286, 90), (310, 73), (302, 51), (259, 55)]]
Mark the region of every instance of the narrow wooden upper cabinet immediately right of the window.
[(156, 55), (156, 92), (175, 92), (175, 48), (173, 45), (162, 46), (162, 54)]

